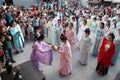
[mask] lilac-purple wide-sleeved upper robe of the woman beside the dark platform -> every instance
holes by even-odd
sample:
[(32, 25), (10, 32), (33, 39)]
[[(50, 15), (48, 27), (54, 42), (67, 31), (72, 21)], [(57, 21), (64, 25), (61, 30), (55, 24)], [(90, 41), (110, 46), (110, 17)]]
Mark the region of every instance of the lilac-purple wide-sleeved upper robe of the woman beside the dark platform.
[(50, 45), (42, 41), (36, 41), (33, 45), (31, 59), (35, 59), (46, 65), (51, 65), (53, 61), (53, 52)]

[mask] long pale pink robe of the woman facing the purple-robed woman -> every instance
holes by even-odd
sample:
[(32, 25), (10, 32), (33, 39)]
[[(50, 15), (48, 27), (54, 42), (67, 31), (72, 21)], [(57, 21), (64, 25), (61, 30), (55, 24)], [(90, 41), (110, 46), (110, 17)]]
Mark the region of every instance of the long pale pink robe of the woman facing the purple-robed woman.
[(71, 54), (71, 47), (68, 41), (66, 42), (66, 44), (62, 44), (60, 46), (59, 54), (60, 54), (59, 73), (67, 76), (72, 71), (72, 64), (71, 64), (72, 54)]

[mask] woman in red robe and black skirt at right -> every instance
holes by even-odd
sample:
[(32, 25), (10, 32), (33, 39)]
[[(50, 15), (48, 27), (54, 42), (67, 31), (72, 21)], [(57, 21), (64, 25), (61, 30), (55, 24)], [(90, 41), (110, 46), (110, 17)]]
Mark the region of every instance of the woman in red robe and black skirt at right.
[(115, 36), (113, 33), (110, 33), (108, 38), (103, 38), (96, 67), (96, 71), (100, 75), (104, 76), (108, 73), (109, 66), (116, 50), (116, 45), (113, 42), (114, 38)]

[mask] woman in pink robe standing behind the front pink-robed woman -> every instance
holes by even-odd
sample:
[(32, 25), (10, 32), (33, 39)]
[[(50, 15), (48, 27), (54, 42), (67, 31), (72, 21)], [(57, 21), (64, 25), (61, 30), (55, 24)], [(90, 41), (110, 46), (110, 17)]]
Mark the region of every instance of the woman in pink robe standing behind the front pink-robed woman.
[(73, 23), (70, 23), (69, 30), (66, 31), (66, 37), (70, 43), (71, 49), (73, 48), (75, 32), (73, 29)]

